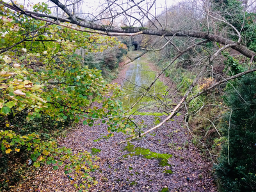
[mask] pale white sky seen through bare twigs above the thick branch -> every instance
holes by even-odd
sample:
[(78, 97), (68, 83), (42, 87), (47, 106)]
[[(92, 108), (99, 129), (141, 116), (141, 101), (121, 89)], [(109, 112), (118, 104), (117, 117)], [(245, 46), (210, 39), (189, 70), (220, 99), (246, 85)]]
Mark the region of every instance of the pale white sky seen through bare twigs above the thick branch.
[[(69, 0), (66, 1), (67, 5), (69, 4), (68, 8), (72, 10), (73, 5), (72, 3), (76, 2), (77, 0)], [(113, 0), (114, 1), (114, 0)], [(116, 1), (116, 4), (113, 4), (112, 6), (115, 6), (115, 10), (112, 10), (112, 13), (118, 13), (122, 11), (122, 8), (127, 9), (129, 6), (133, 6), (134, 3), (139, 3), (141, 0), (118, 0)], [(147, 14), (148, 18), (152, 19), (154, 16), (159, 15), (161, 12), (166, 10), (166, 6), (170, 7), (173, 4), (177, 4), (182, 0), (156, 0), (156, 3), (154, 6), (152, 6), (150, 12)], [(49, 5), (49, 8), (51, 8), (52, 13), (56, 15), (56, 4), (52, 3), (49, 0), (17, 0), (20, 4), (23, 4), (25, 9), (27, 10), (33, 10), (33, 4), (36, 3), (47, 3)], [(133, 3), (134, 2), (134, 3)], [(153, 3), (154, 1), (152, 0), (145, 0), (142, 3), (139, 4), (144, 10), (143, 12), (146, 12), (148, 7)], [(65, 1), (61, 1), (61, 3), (65, 3)], [(101, 13), (103, 10), (105, 11), (104, 15), (101, 15), (100, 17), (97, 17), (99, 19), (102, 19), (103, 17), (111, 17), (111, 13), (109, 12), (109, 9), (106, 9), (104, 7), (107, 7), (108, 4), (111, 4), (111, 1), (107, 0), (83, 0), (83, 3), (79, 3), (79, 5), (76, 8), (76, 15), (79, 17), (86, 18), (88, 20), (93, 20), (95, 19), (95, 16), (99, 16), (99, 13)], [(128, 5), (129, 4), (129, 5)], [(58, 8), (58, 15), (60, 15), (61, 9)], [(140, 20), (140, 18), (144, 17), (145, 15), (140, 12), (138, 7), (134, 6), (131, 10), (127, 12), (129, 15), (132, 17), (135, 17)], [(61, 17), (61, 15), (60, 15)], [(141, 19), (140, 21), (134, 22), (134, 19), (132, 17), (124, 17), (124, 16), (119, 16), (118, 19), (115, 20), (113, 23), (114, 25), (123, 25), (124, 23), (127, 26), (141, 26), (142, 23), (147, 22), (147, 19)], [(128, 18), (128, 19), (125, 19)], [(111, 19), (109, 19), (111, 20)], [(97, 22), (97, 20), (95, 20)], [(102, 23), (104, 24), (104, 23)]]

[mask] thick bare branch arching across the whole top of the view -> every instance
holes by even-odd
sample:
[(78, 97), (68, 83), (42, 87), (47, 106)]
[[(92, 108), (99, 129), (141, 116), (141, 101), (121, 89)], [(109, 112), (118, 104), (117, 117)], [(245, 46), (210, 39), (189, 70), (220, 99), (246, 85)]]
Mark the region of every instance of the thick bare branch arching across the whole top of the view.
[[(115, 35), (115, 36), (120, 36), (120, 35), (131, 36), (131, 34), (133, 34), (133, 35), (143, 34), (143, 35), (155, 35), (155, 36), (163, 36), (163, 35), (164, 36), (176, 35), (176, 36), (186, 36), (186, 37), (190, 36), (193, 38), (203, 38), (205, 40), (209, 40), (211, 42), (217, 42), (217, 43), (220, 43), (223, 45), (233, 44), (232, 49), (235, 49), (236, 51), (240, 52), (244, 56), (246, 56), (250, 59), (253, 58), (253, 60), (256, 61), (255, 52), (251, 51), (244, 45), (241, 45), (237, 42), (229, 40), (228, 38), (225, 38), (223, 36), (212, 35), (212, 34), (209, 34), (208, 32), (202, 32), (202, 31), (168, 31), (168, 30), (134, 28), (134, 27), (122, 28), (122, 27), (114, 27), (114, 26), (102, 26), (100, 24), (89, 22), (84, 19), (75, 17), (68, 11), (67, 7), (64, 4), (61, 4), (60, 1), (58, 1), (58, 0), (51, 0), (51, 1), (53, 3), (55, 3), (57, 6), (59, 6), (62, 10), (64, 10), (65, 13), (67, 13), (67, 15), (69, 17), (67, 19), (63, 19), (63, 18), (59, 18), (59, 17), (54, 17), (52, 15), (44, 15), (41, 13), (29, 12), (27, 10), (20, 11), (21, 9), (17, 8), (17, 5), (13, 6), (11, 4), (4, 3), (4, 1), (2, 1), (2, 0), (0, 0), (0, 3), (2, 3), (4, 6), (10, 8), (10, 9), (12, 9), (15, 12), (20, 12), (22, 14), (28, 15), (29, 17), (33, 17), (34, 19), (45, 20), (47, 22), (51, 22), (52, 24), (60, 25), (60, 23), (58, 23), (58, 22), (49, 20), (49, 19), (54, 19), (54, 20), (59, 20), (60, 22), (69, 22), (71, 24), (76, 24), (77, 26), (81, 26), (83, 28), (96, 30), (96, 31), (90, 31), (90, 33), (99, 33), (102, 35), (111, 35), (111, 36), (113, 36), (113, 35)], [(45, 19), (45, 18), (49, 18), (49, 19)], [(67, 27), (65, 25), (63, 25), (63, 26)], [(74, 28), (74, 29), (77, 30), (77, 28)], [(100, 31), (102, 31), (104, 33), (100, 32)]]

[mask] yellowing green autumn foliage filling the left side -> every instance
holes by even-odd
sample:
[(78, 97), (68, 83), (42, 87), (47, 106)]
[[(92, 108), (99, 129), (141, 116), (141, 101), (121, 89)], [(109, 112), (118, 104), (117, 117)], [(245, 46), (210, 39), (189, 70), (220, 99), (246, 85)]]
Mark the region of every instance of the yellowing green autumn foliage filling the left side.
[[(45, 3), (33, 8), (35, 12), (51, 13)], [(86, 180), (97, 183), (89, 175), (97, 168), (93, 163), (97, 157), (58, 147), (54, 134), (81, 118), (90, 126), (100, 119), (108, 125), (109, 132), (126, 132), (130, 127), (127, 120), (119, 117), (123, 114), (119, 86), (104, 80), (104, 65), (99, 70), (93, 65), (88, 67), (84, 60), (84, 54), (115, 49), (120, 54), (104, 59), (105, 63), (112, 62), (112, 68), (107, 67), (111, 70), (125, 52), (125, 45), (115, 37), (74, 31), (19, 15), (2, 4), (0, 24), (0, 163), (4, 164), (0, 169), (0, 189), (8, 190), (20, 180), (24, 172), (12, 170), (19, 170), (15, 166), (20, 164), (27, 166), (28, 159), (35, 168), (53, 164), (57, 170), (65, 166), (65, 173), (72, 172), (74, 179), (83, 179), (77, 188), (89, 188)], [(93, 102), (102, 108), (92, 107)], [(18, 179), (10, 179), (13, 174)]]

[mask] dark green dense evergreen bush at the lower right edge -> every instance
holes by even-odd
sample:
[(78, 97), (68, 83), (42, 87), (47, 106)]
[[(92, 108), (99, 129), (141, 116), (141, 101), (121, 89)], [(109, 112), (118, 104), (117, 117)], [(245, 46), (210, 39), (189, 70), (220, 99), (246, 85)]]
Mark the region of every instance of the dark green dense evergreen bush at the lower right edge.
[(223, 145), (216, 173), (222, 191), (255, 191), (255, 74), (243, 76), (240, 81), (232, 83), (236, 90), (227, 86), (228, 96), (225, 97), (232, 115), (230, 118), (228, 113), (222, 123), (226, 140), (229, 132), (229, 143)]

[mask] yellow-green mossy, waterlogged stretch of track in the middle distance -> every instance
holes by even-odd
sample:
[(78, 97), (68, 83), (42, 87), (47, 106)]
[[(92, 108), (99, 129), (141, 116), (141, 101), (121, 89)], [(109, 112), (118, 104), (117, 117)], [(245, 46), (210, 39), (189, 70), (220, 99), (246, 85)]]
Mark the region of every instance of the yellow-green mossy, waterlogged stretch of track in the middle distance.
[[(126, 100), (122, 100), (124, 107), (131, 107), (141, 95), (147, 92), (148, 86), (154, 81), (157, 72), (150, 70), (148, 67), (147, 58), (140, 58), (134, 61), (125, 75), (124, 90), (127, 95)], [(156, 108), (159, 105), (159, 100), (164, 100), (168, 95), (168, 86), (165, 86), (162, 81), (157, 79), (156, 83), (150, 88), (150, 91), (145, 94), (145, 97), (140, 100), (134, 108), (129, 111), (132, 115), (154, 115), (161, 116), (163, 113), (146, 112), (148, 108)], [(166, 102), (171, 102), (166, 99)]]

